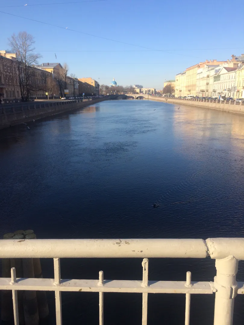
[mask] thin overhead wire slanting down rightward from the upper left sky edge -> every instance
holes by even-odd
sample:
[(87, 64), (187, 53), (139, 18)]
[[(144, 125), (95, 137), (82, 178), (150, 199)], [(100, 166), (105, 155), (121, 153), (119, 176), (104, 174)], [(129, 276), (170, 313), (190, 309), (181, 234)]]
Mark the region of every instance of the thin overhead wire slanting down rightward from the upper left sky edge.
[[(70, 29), (68, 27), (62, 27), (62, 26), (50, 24), (48, 22), (44, 22), (44, 21), (40, 21), (40, 20), (36, 20), (36, 19), (32, 19), (32, 18), (27, 18), (27, 17), (15, 15), (15, 14), (11, 14), (11, 13), (5, 12), (5, 11), (0, 11), (0, 13), (6, 14), (6, 15), (9, 15), (9, 16), (14, 16), (14, 17), (22, 18), (22, 19), (31, 20), (31, 21), (34, 21), (34, 22), (39, 22), (39, 23), (44, 24), (44, 25), (48, 25), (48, 26), (52, 26), (52, 27), (57, 27), (57, 28), (65, 29), (65, 30), (68, 30), (68, 31), (71, 31), (71, 32), (80, 33), (80, 34), (83, 34), (83, 35), (88, 35), (88, 36), (92, 36), (92, 37), (96, 37), (96, 38), (101, 38), (101, 39), (104, 39), (104, 40), (107, 40), (107, 41), (112, 41), (112, 42), (121, 43), (121, 44), (125, 44), (125, 45), (130, 45), (130, 46), (136, 46), (136, 47), (145, 48), (147, 50), (154, 50), (154, 51), (158, 51), (158, 52), (165, 52), (165, 53), (172, 54), (170, 52), (167, 52), (166, 50), (157, 50), (157, 49), (154, 49), (154, 48), (151, 48), (151, 47), (146, 47), (146, 46), (141, 46), (141, 45), (135, 45), (135, 44), (131, 44), (131, 43), (127, 43), (127, 42), (122, 42), (122, 41), (114, 40), (114, 39), (107, 38), (107, 37), (103, 37), (103, 36), (89, 34), (89, 33), (81, 32), (81, 31), (76, 31), (76, 30)], [(174, 53), (174, 54), (180, 55), (180, 56), (186, 56), (186, 57), (194, 58), (193, 56), (190, 56), (190, 55), (184, 55), (184, 54), (178, 54), (178, 53)]]

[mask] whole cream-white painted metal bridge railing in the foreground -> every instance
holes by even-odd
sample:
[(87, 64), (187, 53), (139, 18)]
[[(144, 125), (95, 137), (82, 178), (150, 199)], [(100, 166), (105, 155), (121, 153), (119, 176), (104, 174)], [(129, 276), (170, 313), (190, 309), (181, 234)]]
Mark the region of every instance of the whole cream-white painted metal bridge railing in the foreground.
[[(187, 272), (186, 281), (149, 281), (150, 257), (205, 258), (216, 260), (213, 282), (192, 282)], [(69, 257), (136, 257), (142, 260), (142, 280), (61, 279), (60, 258)], [(11, 278), (0, 278), (0, 290), (12, 290), (14, 321), (18, 320), (17, 290), (54, 291), (56, 324), (62, 324), (61, 292), (99, 292), (99, 324), (103, 325), (104, 292), (142, 293), (142, 325), (147, 324), (148, 293), (184, 293), (186, 295), (185, 325), (190, 321), (191, 294), (215, 292), (214, 325), (231, 325), (234, 298), (244, 294), (244, 282), (236, 281), (238, 260), (244, 260), (244, 238), (202, 239), (35, 239), (1, 240), (0, 258), (53, 258), (54, 279), (16, 278), (11, 268)]]

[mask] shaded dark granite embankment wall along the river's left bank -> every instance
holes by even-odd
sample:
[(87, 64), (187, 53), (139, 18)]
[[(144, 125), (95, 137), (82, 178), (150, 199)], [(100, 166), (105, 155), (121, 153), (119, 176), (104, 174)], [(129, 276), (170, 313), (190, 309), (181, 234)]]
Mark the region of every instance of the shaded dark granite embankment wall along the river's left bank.
[(8, 126), (37, 120), (43, 117), (59, 114), (69, 110), (79, 109), (88, 105), (92, 105), (107, 98), (96, 98), (93, 100), (70, 100), (56, 102), (38, 102), (23, 105), (13, 105), (12, 107), (0, 107), (0, 129)]

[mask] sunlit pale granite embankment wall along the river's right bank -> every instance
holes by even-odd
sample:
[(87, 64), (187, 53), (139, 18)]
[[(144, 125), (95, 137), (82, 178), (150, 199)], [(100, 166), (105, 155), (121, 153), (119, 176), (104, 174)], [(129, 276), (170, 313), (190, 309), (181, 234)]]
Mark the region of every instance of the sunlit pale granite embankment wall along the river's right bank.
[(244, 114), (244, 103), (236, 103), (236, 101), (221, 101), (220, 100), (206, 100), (206, 99), (176, 99), (176, 98), (160, 98), (150, 96), (149, 100), (163, 101), (178, 105), (188, 105), (194, 107), (208, 108), (210, 110), (222, 110), (223, 112), (232, 112), (238, 114)]

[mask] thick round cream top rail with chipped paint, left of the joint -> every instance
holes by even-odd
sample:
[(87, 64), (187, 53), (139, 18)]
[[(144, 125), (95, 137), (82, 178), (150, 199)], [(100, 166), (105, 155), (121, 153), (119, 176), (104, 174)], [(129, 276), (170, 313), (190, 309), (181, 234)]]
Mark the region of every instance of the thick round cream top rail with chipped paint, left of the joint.
[(191, 257), (205, 258), (202, 239), (0, 240), (0, 258)]

